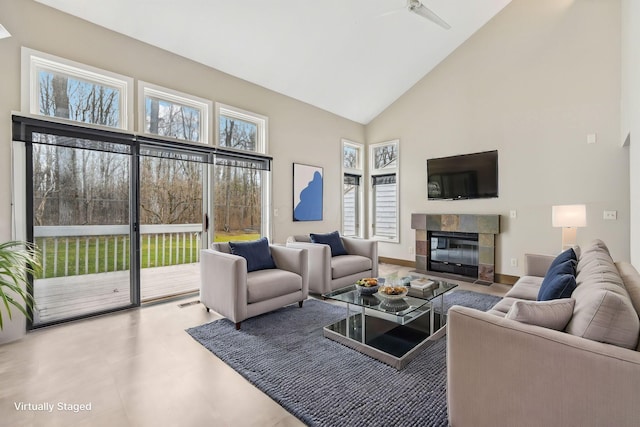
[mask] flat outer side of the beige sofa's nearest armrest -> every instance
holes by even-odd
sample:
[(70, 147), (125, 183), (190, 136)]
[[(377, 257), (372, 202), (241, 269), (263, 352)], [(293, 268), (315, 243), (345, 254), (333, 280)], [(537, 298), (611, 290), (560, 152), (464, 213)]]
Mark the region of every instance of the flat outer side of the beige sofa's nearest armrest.
[(459, 426), (638, 423), (640, 353), (454, 306), (449, 422)]

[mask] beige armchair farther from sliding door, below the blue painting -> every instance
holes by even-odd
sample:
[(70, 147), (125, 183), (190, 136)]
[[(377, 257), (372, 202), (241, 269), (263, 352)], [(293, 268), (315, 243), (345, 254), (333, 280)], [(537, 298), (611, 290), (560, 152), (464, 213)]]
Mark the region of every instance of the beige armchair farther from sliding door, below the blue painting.
[(324, 294), (363, 277), (378, 276), (378, 242), (340, 237), (347, 255), (331, 256), (328, 245), (311, 243), (308, 235), (289, 236), (288, 248), (309, 251), (309, 292)]

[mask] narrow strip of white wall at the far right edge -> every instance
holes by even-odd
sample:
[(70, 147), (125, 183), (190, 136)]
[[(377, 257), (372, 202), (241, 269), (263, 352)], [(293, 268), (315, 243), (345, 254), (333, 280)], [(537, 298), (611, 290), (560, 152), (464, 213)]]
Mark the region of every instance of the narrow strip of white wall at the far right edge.
[(640, 268), (640, 3), (622, 1), (622, 136), (630, 135), (631, 262)]

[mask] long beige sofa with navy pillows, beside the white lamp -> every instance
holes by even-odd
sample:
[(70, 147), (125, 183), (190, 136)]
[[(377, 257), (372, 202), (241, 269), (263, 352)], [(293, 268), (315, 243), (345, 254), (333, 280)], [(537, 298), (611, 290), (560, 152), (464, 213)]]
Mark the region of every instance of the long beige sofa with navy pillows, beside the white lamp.
[(600, 240), (577, 252), (571, 298), (533, 302), (554, 257), (527, 255), (492, 310), (449, 310), (451, 426), (640, 425), (640, 275)]

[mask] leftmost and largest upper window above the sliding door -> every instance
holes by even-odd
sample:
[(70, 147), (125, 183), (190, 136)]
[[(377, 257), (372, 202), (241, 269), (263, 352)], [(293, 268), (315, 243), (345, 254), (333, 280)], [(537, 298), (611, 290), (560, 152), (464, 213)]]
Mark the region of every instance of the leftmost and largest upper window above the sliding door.
[(23, 48), (23, 111), (81, 123), (130, 129), (133, 80)]

